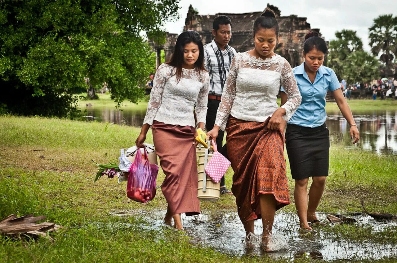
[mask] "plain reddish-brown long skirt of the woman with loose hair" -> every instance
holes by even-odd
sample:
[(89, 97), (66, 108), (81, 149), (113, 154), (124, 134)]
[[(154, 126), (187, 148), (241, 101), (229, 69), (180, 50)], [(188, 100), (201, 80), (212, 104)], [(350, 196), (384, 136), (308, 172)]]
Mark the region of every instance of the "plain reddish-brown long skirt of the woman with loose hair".
[(161, 190), (170, 212), (173, 215), (199, 214), (197, 157), (193, 145), (195, 129), (154, 121), (152, 132), (156, 154), (166, 175)]

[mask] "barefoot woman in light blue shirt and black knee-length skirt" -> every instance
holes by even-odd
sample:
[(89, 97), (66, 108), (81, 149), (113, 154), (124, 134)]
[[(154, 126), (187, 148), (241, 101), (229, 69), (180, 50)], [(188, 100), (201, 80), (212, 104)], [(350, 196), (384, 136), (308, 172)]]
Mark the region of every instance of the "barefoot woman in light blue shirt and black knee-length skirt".
[[(328, 176), (330, 132), (325, 124), (327, 118), (325, 97), (328, 90), (331, 91), (340, 111), (350, 125), (350, 135), (352, 139), (354, 138), (353, 143), (357, 143), (360, 139), (357, 124), (343, 96), (335, 72), (322, 66), (326, 53), (327, 45), (324, 39), (319, 37), (317, 32), (309, 32), (303, 44), (305, 61), (293, 69), (302, 102), (288, 121), (285, 133), (291, 174), (295, 179), (295, 206), (301, 228), (309, 230), (312, 228), (308, 222), (324, 225), (318, 221), (316, 209)], [(281, 92), (281, 105), (286, 98), (285, 93)], [(312, 177), (313, 182), (308, 198), (309, 177)]]

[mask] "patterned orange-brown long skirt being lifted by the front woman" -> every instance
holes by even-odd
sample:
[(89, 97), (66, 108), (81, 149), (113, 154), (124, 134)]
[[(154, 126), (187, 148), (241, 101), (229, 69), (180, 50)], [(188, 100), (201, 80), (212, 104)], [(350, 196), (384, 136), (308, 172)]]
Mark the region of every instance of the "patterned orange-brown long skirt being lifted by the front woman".
[(276, 210), (290, 204), (285, 175), (284, 134), (265, 122), (230, 117), (226, 126), (227, 153), (233, 168), (232, 192), (241, 222), (262, 218), (259, 194), (273, 194)]

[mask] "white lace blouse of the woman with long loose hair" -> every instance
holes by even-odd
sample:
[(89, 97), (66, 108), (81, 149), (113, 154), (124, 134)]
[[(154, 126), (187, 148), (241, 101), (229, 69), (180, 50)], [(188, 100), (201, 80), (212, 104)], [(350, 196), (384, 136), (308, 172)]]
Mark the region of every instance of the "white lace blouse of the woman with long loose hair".
[(158, 67), (143, 124), (152, 125), (156, 120), (195, 127), (194, 108), (197, 122), (205, 123), (210, 83), (208, 72), (200, 74), (196, 68), (182, 69), (179, 82), (175, 73), (176, 68), (166, 63)]

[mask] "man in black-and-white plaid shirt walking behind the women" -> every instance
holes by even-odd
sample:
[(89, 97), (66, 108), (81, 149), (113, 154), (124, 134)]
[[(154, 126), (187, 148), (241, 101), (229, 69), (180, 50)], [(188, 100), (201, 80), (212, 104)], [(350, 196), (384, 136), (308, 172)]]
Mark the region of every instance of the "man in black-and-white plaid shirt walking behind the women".
[[(215, 17), (212, 23), (212, 42), (204, 46), (204, 66), (210, 74), (210, 92), (208, 95), (208, 110), (206, 118), (207, 131), (215, 124), (216, 111), (221, 101), (222, 91), (229, 73), (230, 63), (236, 50), (228, 45), (231, 38), (231, 21), (226, 15)], [(226, 147), (222, 148), (224, 131), (219, 130), (216, 145), (220, 153), (227, 157)], [(231, 194), (225, 186), (225, 176), (221, 179), (221, 194)]]

